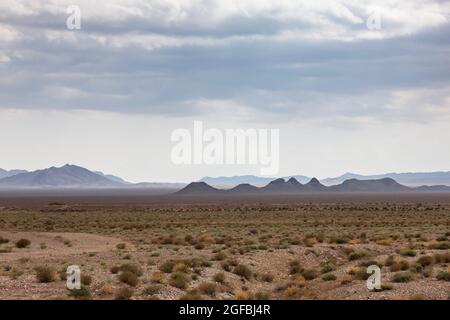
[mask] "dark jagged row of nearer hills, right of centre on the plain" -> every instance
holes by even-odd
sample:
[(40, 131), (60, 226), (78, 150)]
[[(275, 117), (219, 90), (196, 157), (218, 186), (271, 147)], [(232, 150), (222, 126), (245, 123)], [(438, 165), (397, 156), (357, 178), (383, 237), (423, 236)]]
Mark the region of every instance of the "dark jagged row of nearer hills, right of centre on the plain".
[(275, 179), (263, 187), (256, 187), (248, 183), (240, 184), (231, 189), (218, 189), (204, 181), (192, 182), (177, 191), (177, 195), (243, 195), (243, 194), (298, 194), (320, 192), (450, 192), (450, 187), (443, 185), (408, 187), (391, 178), (358, 180), (348, 179), (344, 182), (326, 186), (316, 178), (302, 184), (291, 177)]

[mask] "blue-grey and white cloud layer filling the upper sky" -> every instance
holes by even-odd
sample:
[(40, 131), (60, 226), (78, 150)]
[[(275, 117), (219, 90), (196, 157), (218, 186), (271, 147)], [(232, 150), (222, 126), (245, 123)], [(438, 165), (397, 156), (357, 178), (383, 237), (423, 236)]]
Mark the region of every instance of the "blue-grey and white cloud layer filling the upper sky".
[[(78, 4), (82, 29), (65, 29)], [(378, 13), (381, 30), (368, 30)], [(0, 108), (432, 121), (448, 114), (443, 1), (4, 0)]]

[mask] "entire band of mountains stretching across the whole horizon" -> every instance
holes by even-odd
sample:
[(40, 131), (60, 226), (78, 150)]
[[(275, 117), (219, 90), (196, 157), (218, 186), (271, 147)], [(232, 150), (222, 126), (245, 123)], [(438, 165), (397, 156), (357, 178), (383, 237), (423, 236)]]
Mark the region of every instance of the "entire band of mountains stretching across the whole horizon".
[(153, 188), (172, 190), (184, 188), (180, 190), (181, 194), (211, 194), (224, 193), (225, 191), (243, 194), (261, 192), (443, 192), (450, 191), (450, 172), (391, 173), (376, 176), (346, 173), (340, 177), (327, 178), (322, 181), (302, 175), (278, 179), (252, 175), (205, 177), (186, 186), (185, 183), (130, 183), (111, 174), (90, 171), (69, 164), (59, 168), (51, 167), (32, 172), (0, 169), (0, 189), (27, 188)]

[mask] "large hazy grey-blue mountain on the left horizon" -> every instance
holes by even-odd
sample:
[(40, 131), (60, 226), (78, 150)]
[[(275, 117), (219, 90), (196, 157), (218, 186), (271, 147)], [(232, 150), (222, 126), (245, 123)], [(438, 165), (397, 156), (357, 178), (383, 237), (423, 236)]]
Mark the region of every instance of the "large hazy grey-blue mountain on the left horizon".
[(1, 188), (108, 188), (121, 186), (123, 186), (122, 183), (74, 165), (20, 173), (0, 180)]

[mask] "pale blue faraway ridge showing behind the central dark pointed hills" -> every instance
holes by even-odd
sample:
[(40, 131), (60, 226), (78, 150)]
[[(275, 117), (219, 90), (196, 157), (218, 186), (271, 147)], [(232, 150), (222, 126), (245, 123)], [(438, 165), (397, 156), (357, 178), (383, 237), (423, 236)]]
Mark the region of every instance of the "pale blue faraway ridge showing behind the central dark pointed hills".
[[(307, 183), (311, 178), (301, 175), (284, 177), (284, 179), (295, 178), (300, 183)], [(200, 179), (202, 182), (207, 184), (220, 187), (220, 188), (232, 188), (240, 184), (251, 184), (256, 187), (263, 187), (270, 183), (273, 178), (258, 177), (252, 175), (244, 176), (230, 176), (230, 177), (204, 177)]]

